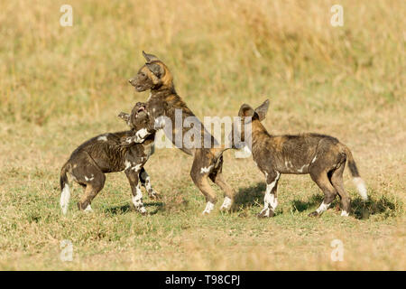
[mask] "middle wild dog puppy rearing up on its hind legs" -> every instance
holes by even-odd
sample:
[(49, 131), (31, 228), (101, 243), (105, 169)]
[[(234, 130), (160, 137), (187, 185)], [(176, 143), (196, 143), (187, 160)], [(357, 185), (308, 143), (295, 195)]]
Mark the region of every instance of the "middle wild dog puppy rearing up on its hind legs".
[[(210, 187), (208, 180), (215, 182), (225, 193), (225, 200), (221, 210), (229, 210), (232, 206), (235, 191), (226, 183), (222, 174), (224, 147), (205, 147), (203, 140), (206, 138), (210, 144), (217, 144), (215, 138), (205, 131), (204, 126), (200, 126), (201, 143), (189, 145), (186, 144), (183, 137), (177, 142), (177, 135), (187, 135), (191, 127), (181, 126), (188, 117), (195, 117), (185, 102), (178, 96), (173, 86), (172, 75), (167, 66), (152, 54), (143, 52), (146, 63), (138, 70), (133, 79), (130, 79), (131, 85), (136, 91), (141, 92), (150, 90), (150, 97), (147, 100), (146, 107), (158, 126), (166, 126), (165, 132), (171, 130), (171, 142), (186, 154), (193, 155), (193, 164), (190, 176), (198, 189), (204, 194), (207, 200), (206, 209), (203, 214), (210, 213), (217, 202), (215, 191)], [(175, 114), (181, 112), (181, 127), (176, 127)], [(171, 127), (168, 124), (162, 124), (161, 117), (171, 119)], [(156, 125), (156, 123), (155, 123)], [(179, 132), (181, 131), (181, 134)], [(124, 144), (143, 142), (143, 138), (154, 133), (154, 127), (140, 130), (133, 137), (126, 138)], [(206, 133), (205, 133), (206, 132)]]

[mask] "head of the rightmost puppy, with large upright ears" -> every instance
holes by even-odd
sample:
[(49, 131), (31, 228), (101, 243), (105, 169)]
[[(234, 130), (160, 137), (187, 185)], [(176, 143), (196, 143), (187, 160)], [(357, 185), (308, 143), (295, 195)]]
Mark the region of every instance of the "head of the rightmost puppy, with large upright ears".
[(245, 140), (245, 127), (248, 124), (255, 125), (255, 121), (263, 121), (268, 112), (269, 108), (269, 99), (266, 99), (263, 104), (255, 109), (247, 104), (244, 104), (240, 107), (238, 111), (238, 120), (233, 123), (232, 131), (228, 136), (232, 147), (236, 149), (242, 148), (242, 143)]

